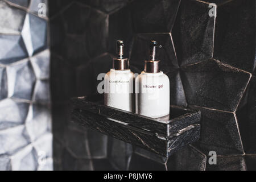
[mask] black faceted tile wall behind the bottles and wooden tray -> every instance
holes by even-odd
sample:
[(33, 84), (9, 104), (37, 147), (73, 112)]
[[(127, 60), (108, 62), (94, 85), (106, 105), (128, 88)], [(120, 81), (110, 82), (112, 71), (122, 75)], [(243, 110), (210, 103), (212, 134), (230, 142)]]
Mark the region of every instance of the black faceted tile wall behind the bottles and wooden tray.
[[(217, 17), (209, 16), (216, 3)], [(48, 2), (55, 170), (256, 169), (255, 1), (134, 0)], [(200, 141), (169, 159), (69, 119), (69, 98), (97, 92), (112, 65), (115, 40), (135, 73), (148, 41), (163, 46), (171, 105), (200, 109)], [(209, 165), (208, 152), (217, 152)]]

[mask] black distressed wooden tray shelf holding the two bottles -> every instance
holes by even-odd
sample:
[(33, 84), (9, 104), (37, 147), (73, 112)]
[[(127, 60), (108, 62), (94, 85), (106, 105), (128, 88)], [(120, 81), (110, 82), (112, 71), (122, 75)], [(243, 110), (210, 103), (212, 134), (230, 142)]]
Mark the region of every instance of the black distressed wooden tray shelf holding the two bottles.
[(170, 121), (156, 121), (102, 105), (101, 96), (72, 98), (71, 121), (162, 156), (199, 140), (200, 111), (171, 106)]

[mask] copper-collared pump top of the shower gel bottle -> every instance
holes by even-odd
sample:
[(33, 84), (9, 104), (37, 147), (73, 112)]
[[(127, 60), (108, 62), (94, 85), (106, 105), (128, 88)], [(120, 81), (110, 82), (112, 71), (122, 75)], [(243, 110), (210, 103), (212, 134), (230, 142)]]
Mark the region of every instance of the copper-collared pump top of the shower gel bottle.
[(158, 73), (159, 72), (159, 60), (155, 60), (156, 48), (158, 44), (155, 40), (150, 41), (150, 60), (144, 61), (144, 72)]

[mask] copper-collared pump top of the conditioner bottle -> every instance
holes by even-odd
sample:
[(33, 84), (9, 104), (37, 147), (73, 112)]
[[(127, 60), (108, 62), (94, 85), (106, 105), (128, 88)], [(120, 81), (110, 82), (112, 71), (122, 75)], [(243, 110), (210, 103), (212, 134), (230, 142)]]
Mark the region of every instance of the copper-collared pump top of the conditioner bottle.
[(125, 70), (128, 69), (128, 59), (123, 58), (124, 52), (123, 40), (117, 40), (116, 42), (116, 52), (118, 57), (113, 59), (113, 68), (117, 70)]

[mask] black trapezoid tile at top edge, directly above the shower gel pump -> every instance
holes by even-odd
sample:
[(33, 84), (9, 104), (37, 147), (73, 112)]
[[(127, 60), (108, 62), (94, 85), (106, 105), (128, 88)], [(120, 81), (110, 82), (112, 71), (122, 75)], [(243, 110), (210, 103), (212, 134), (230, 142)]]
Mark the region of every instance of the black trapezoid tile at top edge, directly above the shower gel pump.
[(130, 5), (137, 33), (170, 32), (174, 26), (180, 0), (174, 1), (134, 1)]

